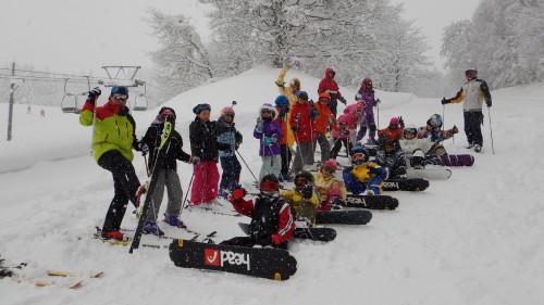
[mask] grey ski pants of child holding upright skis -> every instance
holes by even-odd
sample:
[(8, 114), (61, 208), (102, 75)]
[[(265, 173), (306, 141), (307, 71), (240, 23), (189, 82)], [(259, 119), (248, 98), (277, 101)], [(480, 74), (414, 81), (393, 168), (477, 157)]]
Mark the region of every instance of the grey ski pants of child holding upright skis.
[(157, 221), (159, 209), (161, 207), (162, 198), (164, 196), (164, 188), (168, 192), (166, 216), (178, 216), (183, 204), (182, 182), (177, 171), (164, 168), (159, 174), (157, 185), (151, 194), (151, 208), (148, 209), (146, 220)]

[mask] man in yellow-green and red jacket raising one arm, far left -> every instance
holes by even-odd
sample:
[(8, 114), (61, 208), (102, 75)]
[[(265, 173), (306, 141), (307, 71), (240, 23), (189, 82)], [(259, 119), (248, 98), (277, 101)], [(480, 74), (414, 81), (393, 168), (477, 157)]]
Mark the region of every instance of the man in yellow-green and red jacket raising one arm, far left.
[(140, 182), (132, 164), (134, 158), (132, 150), (147, 152), (148, 148), (139, 144), (136, 139), (136, 123), (126, 106), (128, 89), (123, 86), (112, 87), (108, 102), (103, 106), (95, 107), (100, 93), (98, 87), (89, 91), (79, 116), (79, 124), (95, 125), (92, 154), (98, 165), (111, 171), (113, 176), (114, 195), (106, 214), (102, 238), (123, 240), (123, 234), (119, 230), (128, 201), (137, 207), (138, 193), (144, 190), (139, 190)]

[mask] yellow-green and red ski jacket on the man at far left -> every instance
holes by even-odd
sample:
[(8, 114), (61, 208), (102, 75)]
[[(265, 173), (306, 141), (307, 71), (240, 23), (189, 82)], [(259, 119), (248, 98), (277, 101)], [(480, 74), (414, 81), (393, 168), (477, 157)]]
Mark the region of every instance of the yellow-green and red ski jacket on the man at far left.
[[(95, 104), (85, 102), (79, 114), (79, 124), (92, 126)], [(96, 119), (92, 135), (92, 156), (98, 162), (104, 152), (116, 150), (129, 162), (133, 161), (133, 148), (136, 150), (136, 123), (128, 107), (118, 106), (108, 101), (103, 106), (96, 107)]]

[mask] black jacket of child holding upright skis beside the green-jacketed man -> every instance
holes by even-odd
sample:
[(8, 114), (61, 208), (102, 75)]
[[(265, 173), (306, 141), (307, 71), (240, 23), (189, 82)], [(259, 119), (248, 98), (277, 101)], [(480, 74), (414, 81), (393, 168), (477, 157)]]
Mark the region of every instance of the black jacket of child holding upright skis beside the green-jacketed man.
[[(164, 124), (151, 124), (147, 129), (146, 136), (141, 139), (143, 143), (149, 147), (149, 164), (154, 164)], [(177, 170), (177, 160), (188, 163), (190, 154), (183, 151), (183, 139), (180, 132), (172, 130), (170, 135), (170, 148), (164, 153), (164, 168)]]

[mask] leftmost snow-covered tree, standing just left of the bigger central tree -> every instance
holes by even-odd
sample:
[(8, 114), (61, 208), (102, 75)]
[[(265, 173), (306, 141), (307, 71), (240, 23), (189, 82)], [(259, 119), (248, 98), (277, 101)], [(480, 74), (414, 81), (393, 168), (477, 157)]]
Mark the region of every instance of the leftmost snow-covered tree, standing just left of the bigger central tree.
[(159, 50), (151, 52), (151, 59), (157, 64), (160, 98), (172, 98), (214, 76), (208, 50), (187, 18), (156, 10), (150, 10), (149, 14), (148, 23), (161, 45)]

